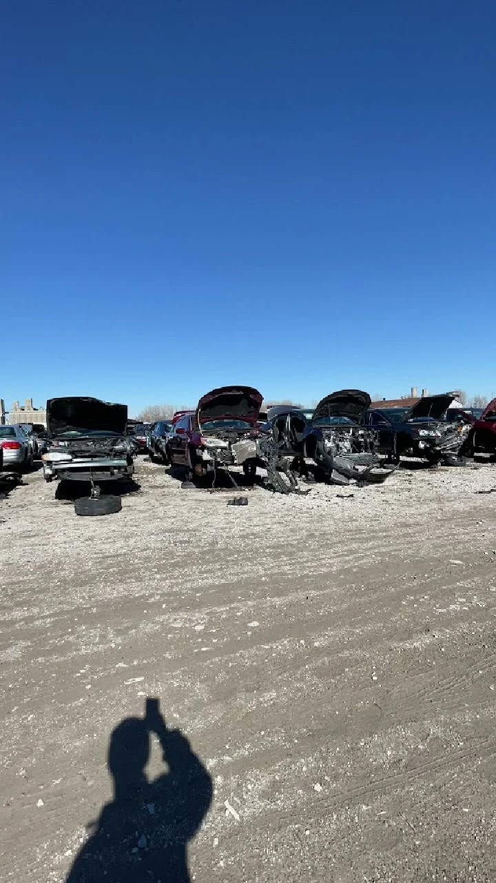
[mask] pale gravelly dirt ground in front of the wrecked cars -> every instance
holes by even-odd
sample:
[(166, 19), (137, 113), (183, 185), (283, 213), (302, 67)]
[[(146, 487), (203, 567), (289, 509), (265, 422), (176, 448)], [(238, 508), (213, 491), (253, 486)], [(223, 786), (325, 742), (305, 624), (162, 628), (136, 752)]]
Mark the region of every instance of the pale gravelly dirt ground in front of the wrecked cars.
[(496, 467), (237, 508), (140, 458), (101, 518), (25, 480), (0, 501), (0, 879), (66, 878), (110, 734), (156, 697), (199, 761), (127, 782), (101, 880), (187, 879), (184, 824), (198, 883), (494, 883)]

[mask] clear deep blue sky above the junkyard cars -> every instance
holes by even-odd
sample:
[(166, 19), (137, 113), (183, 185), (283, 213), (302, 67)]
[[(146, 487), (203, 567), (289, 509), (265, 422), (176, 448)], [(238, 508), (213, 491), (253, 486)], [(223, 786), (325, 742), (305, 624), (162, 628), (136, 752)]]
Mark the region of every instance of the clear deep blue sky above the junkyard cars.
[(4, 0), (0, 396), (496, 394), (494, 0)]

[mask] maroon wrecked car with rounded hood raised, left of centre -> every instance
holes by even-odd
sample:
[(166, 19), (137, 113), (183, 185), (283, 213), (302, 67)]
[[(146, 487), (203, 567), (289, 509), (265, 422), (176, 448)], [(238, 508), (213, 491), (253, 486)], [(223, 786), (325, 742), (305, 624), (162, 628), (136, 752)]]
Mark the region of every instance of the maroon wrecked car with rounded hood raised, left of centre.
[(202, 396), (194, 413), (173, 419), (166, 442), (169, 464), (183, 466), (189, 480), (219, 468), (241, 465), (246, 476), (257, 470), (256, 426), (262, 396), (252, 387), (220, 387)]

